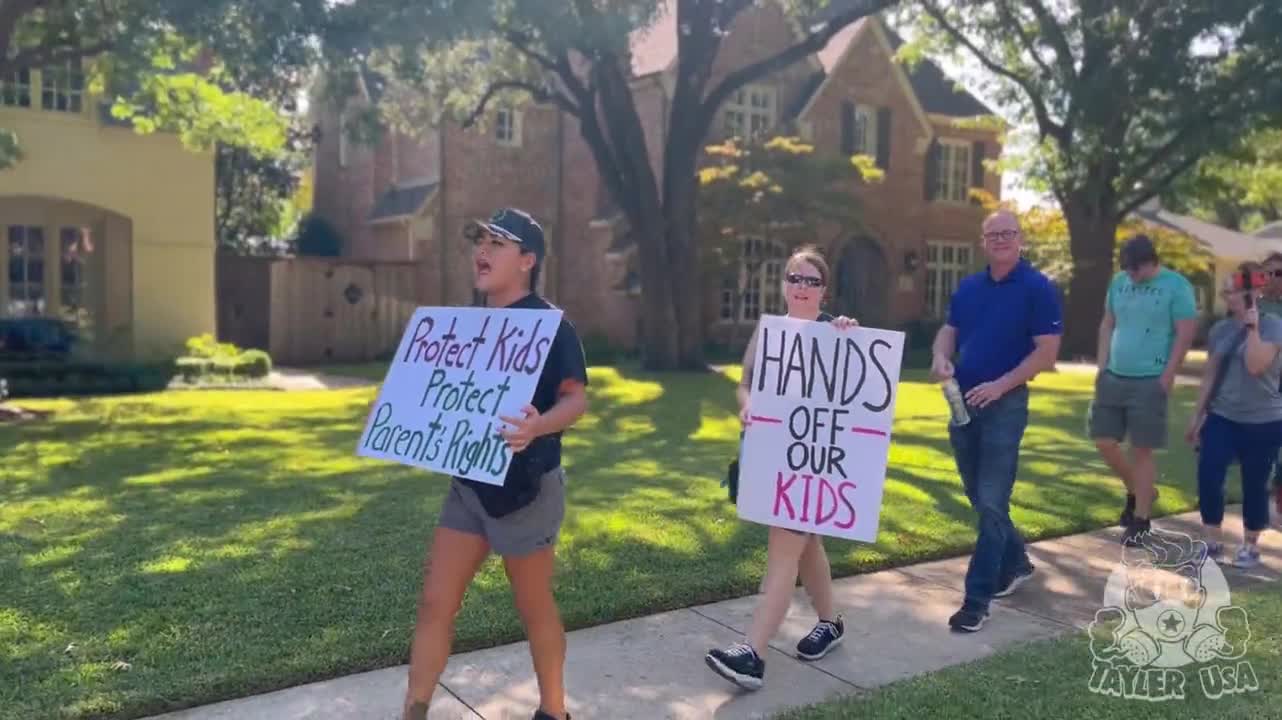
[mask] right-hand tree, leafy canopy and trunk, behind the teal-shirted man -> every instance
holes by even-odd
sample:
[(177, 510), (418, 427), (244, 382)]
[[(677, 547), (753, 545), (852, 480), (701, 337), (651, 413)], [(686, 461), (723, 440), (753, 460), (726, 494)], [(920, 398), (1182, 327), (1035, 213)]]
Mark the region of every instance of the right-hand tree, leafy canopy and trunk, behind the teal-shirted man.
[(1118, 224), (1282, 109), (1282, 4), (914, 0), (906, 51), (973, 58), (1037, 129), (1069, 231), (1065, 348), (1092, 352)]

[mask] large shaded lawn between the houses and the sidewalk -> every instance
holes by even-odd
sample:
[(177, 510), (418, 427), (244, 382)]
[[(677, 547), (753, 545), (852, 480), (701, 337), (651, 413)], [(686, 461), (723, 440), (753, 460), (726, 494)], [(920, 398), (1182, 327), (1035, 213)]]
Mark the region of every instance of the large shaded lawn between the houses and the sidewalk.
[[(558, 598), (570, 628), (755, 592), (764, 528), (719, 487), (733, 379), (597, 368), (567, 438)], [(1015, 521), (1032, 538), (1115, 521), (1122, 491), (1082, 439), (1092, 380), (1035, 392)], [(372, 388), (183, 392), (35, 404), (0, 427), (0, 719), (137, 717), (406, 661), (446, 482), (358, 459)], [(1174, 404), (1182, 428), (1188, 389)], [(938, 388), (900, 386), (876, 546), (829, 542), (851, 574), (967, 552)], [(1194, 506), (1161, 459), (1163, 511)], [(520, 626), (500, 565), (478, 577), (456, 651)]]

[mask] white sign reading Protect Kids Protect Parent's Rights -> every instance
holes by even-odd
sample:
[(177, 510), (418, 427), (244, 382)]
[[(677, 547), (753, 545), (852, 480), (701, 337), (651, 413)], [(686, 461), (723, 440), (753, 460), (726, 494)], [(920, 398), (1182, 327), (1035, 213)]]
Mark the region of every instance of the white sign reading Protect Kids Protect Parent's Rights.
[(503, 416), (538, 386), (560, 310), (419, 307), (387, 369), (356, 455), (501, 486)]

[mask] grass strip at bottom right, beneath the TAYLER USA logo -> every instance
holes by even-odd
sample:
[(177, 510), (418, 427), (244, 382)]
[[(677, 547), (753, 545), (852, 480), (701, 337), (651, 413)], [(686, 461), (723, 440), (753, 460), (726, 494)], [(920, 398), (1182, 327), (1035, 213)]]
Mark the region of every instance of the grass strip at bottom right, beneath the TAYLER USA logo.
[(1224, 693), (1211, 700), (1190, 667), (1185, 674), (1183, 700), (1151, 702), (1095, 694), (1088, 691), (1091, 650), (1083, 632), (895, 683), (859, 698), (786, 712), (778, 720), (1276, 719), (1282, 715), (1282, 588), (1236, 592), (1233, 603), (1246, 611), (1251, 637), (1246, 656), (1231, 665), (1250, 662), (1259, 683), (1255, 692)]

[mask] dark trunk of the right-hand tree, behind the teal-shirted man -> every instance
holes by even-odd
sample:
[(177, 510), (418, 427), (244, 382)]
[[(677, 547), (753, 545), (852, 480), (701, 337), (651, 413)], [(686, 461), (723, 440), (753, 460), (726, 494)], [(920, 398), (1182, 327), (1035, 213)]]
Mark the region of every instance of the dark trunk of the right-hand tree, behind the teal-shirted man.
[(1113, 279), (1117, 213), (1086, 193), (1076, 193), (1064, 201), (1064, 219), (1073, 254), (1073, 278), (1068, 283), (1061, 354), (1074, 359), (1095, 357), (1105, 295)]

